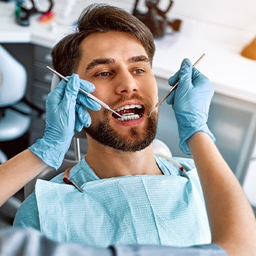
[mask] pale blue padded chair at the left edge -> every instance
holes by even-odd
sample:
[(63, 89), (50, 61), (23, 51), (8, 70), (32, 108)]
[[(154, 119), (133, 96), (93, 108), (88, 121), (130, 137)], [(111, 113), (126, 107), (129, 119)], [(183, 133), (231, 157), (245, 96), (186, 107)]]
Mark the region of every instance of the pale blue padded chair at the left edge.
[[(29, 108), (21, 103), (26, 86), (26, 68), (0, 45), (0, 142), (16, 140), (29, 130)], [(7, 158), (0, 147), (0, 164)], [(11, 217), (20, 204), (13, 196), (1, 207), (1, 213)]]

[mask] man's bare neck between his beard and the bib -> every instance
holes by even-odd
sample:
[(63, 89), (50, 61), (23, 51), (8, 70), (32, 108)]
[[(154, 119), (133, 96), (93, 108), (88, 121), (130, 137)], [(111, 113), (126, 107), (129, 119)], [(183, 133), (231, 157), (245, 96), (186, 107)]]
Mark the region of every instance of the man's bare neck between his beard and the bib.
[(99, 178), (123, 175), (161, 175), (152, 146), (136, 152), (123, 152), (88, 138), (85, 160)]

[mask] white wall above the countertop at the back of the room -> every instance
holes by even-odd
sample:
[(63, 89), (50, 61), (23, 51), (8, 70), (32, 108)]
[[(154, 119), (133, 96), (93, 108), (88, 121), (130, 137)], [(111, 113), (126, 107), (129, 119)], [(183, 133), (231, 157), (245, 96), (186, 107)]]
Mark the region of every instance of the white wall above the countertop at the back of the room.
[[(64, 4), (67, 1), (64, 0)], [(135, 0), (77, 0), (77, 8), (93, 2), (104, 2), (132, 11)], [(140, 9), (144, 10), (145, 0), (140, 0)], [(160, 7), (165, 9), (169, 0), (161, 0)], [(58, 2), (58, 5), (60, 2)], [(175, 0), (171, 18), (195, 19), (213, 22), (230, 28), (243, 29), (256, 34), (256, 1), (255, 0)]]

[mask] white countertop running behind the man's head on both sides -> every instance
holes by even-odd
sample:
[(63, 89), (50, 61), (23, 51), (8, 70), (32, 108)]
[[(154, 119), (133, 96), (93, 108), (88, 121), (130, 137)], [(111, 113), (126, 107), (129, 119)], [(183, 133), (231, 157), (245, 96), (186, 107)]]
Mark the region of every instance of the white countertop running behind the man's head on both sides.
[[(38, 16), (33, 16), (30, 26), (19, 26), (13, 18), (14, 7), (14, 2), (0, 2), (0, 43), (53, 47), (64, 35), (74, 31), (71, 26), (75, 22), (74, 16), (44, 24), (38, 22)], [(75, 17), (78, 17), (77, 12), (72, 15), (76, 13)], [(169, 78), (178, 71), (185, 57), (193, 63), (206, 54), (197, 67), (209, 77), (216, 92), (256, 103), (256, 61), (240, 56), (240, 50), (254, 36), (239, 29), (183, 20), (180, 32), (155, 40), (154, 74), (158, 78)]]

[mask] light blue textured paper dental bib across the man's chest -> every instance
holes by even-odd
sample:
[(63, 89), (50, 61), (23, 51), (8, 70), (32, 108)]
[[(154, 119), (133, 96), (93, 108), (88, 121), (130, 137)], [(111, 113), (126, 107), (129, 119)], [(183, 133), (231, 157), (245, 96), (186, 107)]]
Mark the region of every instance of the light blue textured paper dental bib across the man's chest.
[(195, 169), (181, 175), (133, 175), (81, 185), (38, 180), (41, 232), (85, 246), (161, 244), (189, 247), (211, 241)]

